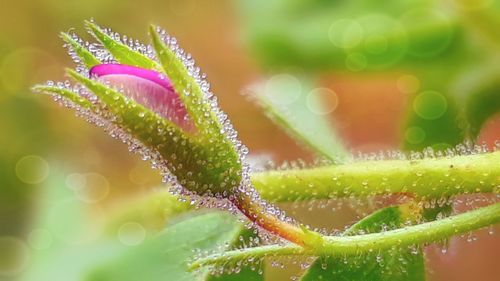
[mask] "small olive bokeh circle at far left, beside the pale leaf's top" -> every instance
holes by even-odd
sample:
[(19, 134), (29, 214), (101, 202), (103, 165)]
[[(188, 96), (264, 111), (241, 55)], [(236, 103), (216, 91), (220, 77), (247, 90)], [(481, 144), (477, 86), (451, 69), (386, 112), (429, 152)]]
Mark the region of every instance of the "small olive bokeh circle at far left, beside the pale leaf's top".
[(16, 175), (20, 181), (27, 184), (43, 182), (50, 172), (47, 160), (37, 155), (27, 155), (16, 163)]

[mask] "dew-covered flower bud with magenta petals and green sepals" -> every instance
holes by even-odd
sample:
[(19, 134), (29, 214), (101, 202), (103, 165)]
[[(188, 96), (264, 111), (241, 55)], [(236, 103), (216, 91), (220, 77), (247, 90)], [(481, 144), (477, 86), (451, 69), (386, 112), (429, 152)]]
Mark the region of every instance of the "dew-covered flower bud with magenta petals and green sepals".
[(89, 121), (150, 159), (180, 192), (219, 198), (234, 194), (243, 179), (245, 149), (192, 61), (174, 52), (179, 49), (172, 39), (154, 29), (153, 47), (137, 47), (91, 22), (87, 26), (103, 49), (62, 36), (79, 63), (77, 71), (68, 70), (77, 86), (35, 90), (84, 112)]

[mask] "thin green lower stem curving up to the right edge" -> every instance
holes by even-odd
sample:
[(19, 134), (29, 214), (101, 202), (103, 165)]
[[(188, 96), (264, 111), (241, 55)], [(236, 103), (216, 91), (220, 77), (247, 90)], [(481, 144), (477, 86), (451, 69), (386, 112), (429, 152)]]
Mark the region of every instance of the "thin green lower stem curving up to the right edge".
[(395, 246), (409, 247), (431, 243), (466, 233), (500, 222), (500, 203), (492, 204), (474, 211), (438, 221), (408, 226), (396, 230), (356, 235), (327, 236), (323, 245), (318, 248), (303, 248), (297, 245), (271, 245), (243, 250), (225, 252), (223, 254), (199, 259), (191, 264), (191, 269), (210, 265), (233, 264), (241, 260), (253, 258), (259, 260), (268, 256), (350, 256), (369, 252), (383, 251)]

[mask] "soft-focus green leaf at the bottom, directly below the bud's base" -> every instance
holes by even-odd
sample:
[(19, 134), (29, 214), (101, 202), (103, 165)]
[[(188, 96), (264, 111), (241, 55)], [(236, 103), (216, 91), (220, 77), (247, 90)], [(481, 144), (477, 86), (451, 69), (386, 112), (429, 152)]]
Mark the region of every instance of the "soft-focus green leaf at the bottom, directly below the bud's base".
[[(233, 241), (240, 230), (241, 225), (228, 213), (195, 216), (168, 226), (156, 238), (100, 265), (86, 280), (199, 280), (195, 273), (188, 272), (194, 251), (219, 252), (219, 247)], [(206, 271), (197, 274), (207, 277)]]

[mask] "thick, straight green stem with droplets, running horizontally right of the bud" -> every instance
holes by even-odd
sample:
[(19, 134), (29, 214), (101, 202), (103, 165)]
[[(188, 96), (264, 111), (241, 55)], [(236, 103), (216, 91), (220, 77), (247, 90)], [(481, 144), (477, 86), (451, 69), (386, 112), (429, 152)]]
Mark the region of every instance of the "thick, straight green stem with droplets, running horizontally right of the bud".
[(264, 199), (274, 202), (395, 193), (422, 200), (498, 193), (500, 152), (269, 171), (252, 175), (252, 183)]

